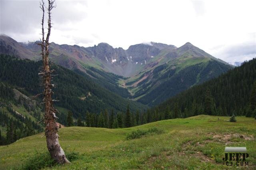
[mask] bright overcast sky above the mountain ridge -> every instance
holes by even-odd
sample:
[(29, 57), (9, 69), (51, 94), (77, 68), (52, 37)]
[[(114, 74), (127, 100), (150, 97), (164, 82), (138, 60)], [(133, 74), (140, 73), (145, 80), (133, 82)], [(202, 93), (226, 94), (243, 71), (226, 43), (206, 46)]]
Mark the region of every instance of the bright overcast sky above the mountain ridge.
[[(127, 49), (142, 42), (191, 42), (226, 62), (256, 56), (255, 0), (56, 0), (50, 41)], [(0, 33), (40, 38), (38, 0), (0, 0)]]

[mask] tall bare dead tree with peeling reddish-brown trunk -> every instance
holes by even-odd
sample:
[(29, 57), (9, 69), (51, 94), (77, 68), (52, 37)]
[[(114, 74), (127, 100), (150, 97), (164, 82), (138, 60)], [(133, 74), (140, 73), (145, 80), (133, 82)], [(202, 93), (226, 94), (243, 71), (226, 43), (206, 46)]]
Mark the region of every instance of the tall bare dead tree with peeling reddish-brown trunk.
[[(56, 124), (56, 119), (58, 117), (56, 116), (56, 113), (58, 110), (56, 110), (53, 107), (53, 102), (56, 100), (52, 99), (52, 88), (54, 87), (54, 84), (52, 84), (52, 73), (54, 70), (50, 70), (49, 65), (49, 38), (51, 33), (51, 11), (56, 6), (54, 5), (55, 0), (48, 0), (48, 6), (44, 5), (44, 0), (42, 0), (42, 3), (40, 3), (40, 8), (43, 12), (42, 17), (42, 39), (41, 42), (38, 43), (42, 47), (42, 62), (43, 62), (43, 69), (39, 73), (40, 76), (43, 78), (43, 85), (44, 85), (44, 99), (43, 104), (45, 106), (45, 114), (44, 114), (44, 124), (45, 124), (45, 136), (46, 136), (46, 144), (48, 151), (50, 152), (51, 157), (58, 162), (59, 164), (65, 164), (70, 163), (68, 159), (65, 156), (65, 153), (63, 149), (60, 147), (60, 143), (58, 140), (58, 126)], [(44, 38), (44, 12), (48, 12), (48, 32), (46, 39)]]

